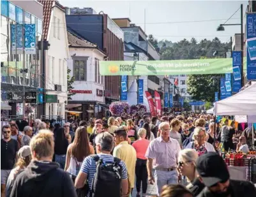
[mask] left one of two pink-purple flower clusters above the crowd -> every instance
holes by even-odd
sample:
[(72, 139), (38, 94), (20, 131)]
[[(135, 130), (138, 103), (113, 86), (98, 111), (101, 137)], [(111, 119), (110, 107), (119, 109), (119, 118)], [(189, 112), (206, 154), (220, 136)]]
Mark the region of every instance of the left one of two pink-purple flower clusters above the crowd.
[(116, 101), (110, 104), (109, 110), (113, 116), (127, 118), (130, 115), (130, 105), (127, 102)]

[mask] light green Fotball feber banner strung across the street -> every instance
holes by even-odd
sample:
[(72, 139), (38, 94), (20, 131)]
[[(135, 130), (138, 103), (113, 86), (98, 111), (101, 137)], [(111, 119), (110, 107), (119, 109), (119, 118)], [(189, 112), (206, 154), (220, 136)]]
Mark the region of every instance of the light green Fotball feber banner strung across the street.
[(204, 75), (232, 73), (232, 58), (100, 61), (100, 75)]

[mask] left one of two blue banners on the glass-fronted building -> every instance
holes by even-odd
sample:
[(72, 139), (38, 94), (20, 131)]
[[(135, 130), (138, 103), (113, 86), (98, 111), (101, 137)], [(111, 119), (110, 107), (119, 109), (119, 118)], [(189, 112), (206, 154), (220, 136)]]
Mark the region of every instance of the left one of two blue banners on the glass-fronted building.
[(11, 54), (23, 54), (23, 26), (11, 24)]

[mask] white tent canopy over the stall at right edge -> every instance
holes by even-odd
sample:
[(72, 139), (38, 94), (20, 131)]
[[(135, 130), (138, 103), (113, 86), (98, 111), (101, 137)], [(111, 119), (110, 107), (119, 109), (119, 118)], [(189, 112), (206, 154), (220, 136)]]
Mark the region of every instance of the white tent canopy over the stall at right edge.
[(256, 115), (256, 83), (216, 102), (215, 115)]

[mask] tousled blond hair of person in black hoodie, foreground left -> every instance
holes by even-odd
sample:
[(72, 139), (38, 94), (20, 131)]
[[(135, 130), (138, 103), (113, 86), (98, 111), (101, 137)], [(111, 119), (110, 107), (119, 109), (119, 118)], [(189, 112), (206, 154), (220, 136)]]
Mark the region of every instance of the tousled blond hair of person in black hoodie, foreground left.
[(52, 157), (54, 155), (54, 134), (49, 130), (40, 130), (30, 143), (31, 153), (35, 153), (36, 159)]

